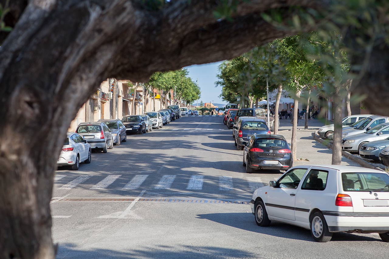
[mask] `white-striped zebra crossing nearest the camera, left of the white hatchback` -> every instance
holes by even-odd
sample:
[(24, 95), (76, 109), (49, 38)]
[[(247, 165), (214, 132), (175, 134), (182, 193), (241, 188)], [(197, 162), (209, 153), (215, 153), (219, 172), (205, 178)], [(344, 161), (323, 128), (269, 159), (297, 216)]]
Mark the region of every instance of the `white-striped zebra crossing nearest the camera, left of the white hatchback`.
[[(103, 190), (103, 189), (121, 189), (121, 190), (136, 190), (136, 189), (144, 189), (149, 186), (149, 188), (152, 189), (171, 189), (174, 185), (177, 177), (177, 175), (160, 175), (159, 179), (156, 179), (155, 175), (134, 175), (132, 179), (124, 184), (124, 186), (117, 186), (114, 185), (114, 187), (111, 187), (114, 182), (116, 182), (118, 179), (121, 179), (122, 175), (108, 175), (104, 179), (101, 179), (99, 182), (94, 184), (92, 187), (88, 189), (91, 190)], [(66, 175), (55, 175), (54, 176), (54, 183), (60, 184), (58, 181), (61, 179), (64, 179)], [(93, 175), (81, 175), (79, 177), (76, 177), (75, 179), (70, 180), (70, 182), (63, 184), (62, 186), (58, 187), (60, 190), (70, 190), (77, 187), (83, 187), (83, 184), (86, 184), (88, 180), (95, 183), (100, 176), (93, 176)], [(270, 180), (277, 180), (278, 177), (271, 176)], [(151, 184), (145, 184), (146, 180), (149, 179), (153, 183)], [(266, 179), (269, 179), (266, 177)], [(158, 182), (156, 182), (158, 180)], [(219, 191), (231, 191), (234, 189), (234, 182), (239, 182), (238, 185), (240, 186), (242, 182), (244, 182), (245, 186), (247, 186), (247, 190), (254, 191), (255, 189), (258, 189), (259, 187), (266, 186), (268, 180), (265, 180), (265, 177), (245, 177), (245, 178), (233, 178), (231, 176), (219, 176), (218, 177), (218, 186)], [(265, 181), (265, 182), (264, 182)], [(207, 176), (204, 175), (192, 175), (189, 180), (184, 183), (186, 186), (186, 190), (202, 190), (204, 186), (204, 182), (207, 182)], [(212, 182), (211, 180), (209, 182)], [(182, 186), (182, 183), (180, 183), (180, 186)]]

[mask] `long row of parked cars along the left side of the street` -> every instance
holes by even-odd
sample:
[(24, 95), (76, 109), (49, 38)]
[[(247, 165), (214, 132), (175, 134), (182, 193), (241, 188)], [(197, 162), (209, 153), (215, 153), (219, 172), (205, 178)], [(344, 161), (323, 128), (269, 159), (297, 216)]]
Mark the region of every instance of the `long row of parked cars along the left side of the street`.
[(126, 115), (121, 120), (81, 122), (75, 132), (67, 133), (57, 166), (70, 166), (72, 170), (78, 170), (80, 163), (91, 163), (92, 151), (107, 153), (114, 145), (126, 142), (128, 134), (143, 134), (152, 129), (161, 129), (163, 125), (179, 117), (172, 108), (166, 108), (142, 115)]

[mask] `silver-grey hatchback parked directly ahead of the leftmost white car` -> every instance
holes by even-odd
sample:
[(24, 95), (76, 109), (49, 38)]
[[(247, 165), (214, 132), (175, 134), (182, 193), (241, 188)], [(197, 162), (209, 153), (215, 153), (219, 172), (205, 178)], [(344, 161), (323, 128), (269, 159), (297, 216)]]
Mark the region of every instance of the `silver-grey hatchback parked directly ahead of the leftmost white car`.
[(92, 150), (95, 149), (107, 153), (107, 149), (114, 147), (111, 130), (105, 122), (81, 122), (75, 132), (88, 141)]

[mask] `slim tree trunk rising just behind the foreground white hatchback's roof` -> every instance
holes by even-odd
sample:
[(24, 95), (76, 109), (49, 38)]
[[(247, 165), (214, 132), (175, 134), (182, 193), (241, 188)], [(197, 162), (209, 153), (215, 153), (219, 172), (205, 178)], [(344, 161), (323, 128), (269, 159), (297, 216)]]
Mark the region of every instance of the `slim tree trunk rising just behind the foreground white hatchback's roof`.
[(342, 95), (340, 86), (334, 87), (334, 135), (332, 144), (332, 165), (342, 163)]

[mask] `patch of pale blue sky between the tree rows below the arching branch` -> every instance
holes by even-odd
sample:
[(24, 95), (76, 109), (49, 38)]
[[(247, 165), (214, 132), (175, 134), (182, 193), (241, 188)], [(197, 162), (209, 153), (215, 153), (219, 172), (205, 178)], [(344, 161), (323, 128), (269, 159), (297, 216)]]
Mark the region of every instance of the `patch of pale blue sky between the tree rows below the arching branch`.
[[(201, 89), (201, 97), (198, 100), (199, 104), (200, 101), (203, 101), (204, 103), (212, 102), (226, 104), (226, 101), (219, 98), (221, 87), (215, 87), (215, 82), (217, 81), (216, 75), (219, 72), (217, 67), (220, 63), (221, 62), (215, 62), (185, 67), (189, 72), (189, 77), (191, 77), (194, 82), (196, 82), (196, 79), (198, 78), (198, 86)], [(197, 105), (197, 102), (195, 101), (193, 105)]]

